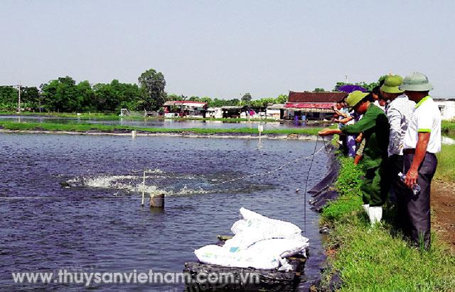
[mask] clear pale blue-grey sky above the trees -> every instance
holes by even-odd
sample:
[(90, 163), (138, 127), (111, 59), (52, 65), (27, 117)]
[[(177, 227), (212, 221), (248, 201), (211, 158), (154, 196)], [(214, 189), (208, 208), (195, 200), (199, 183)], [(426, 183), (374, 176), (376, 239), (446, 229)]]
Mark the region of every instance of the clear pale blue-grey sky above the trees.
[(277, 97), (418, 70), (455, 96), (455, 1), (0, 1), (0, 85), (136, 83)]

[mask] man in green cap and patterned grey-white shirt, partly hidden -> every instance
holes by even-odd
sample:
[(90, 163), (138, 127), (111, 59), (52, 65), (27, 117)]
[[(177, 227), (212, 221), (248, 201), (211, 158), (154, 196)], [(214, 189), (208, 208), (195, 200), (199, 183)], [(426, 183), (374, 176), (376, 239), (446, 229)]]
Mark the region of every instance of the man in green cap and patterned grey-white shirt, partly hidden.
[(407, 125), (414, 112), (415, 103), (410, 101), (404, 90), (400, 90), (403, 78), (400, 75), (390, 75), (380, 87), (381, 96), (389, 101), (385, 108), (385, 114), (390, 124), (388, 170), (391, 193), (397, 202), (397, 225), (407, 229), (406, 202), (402, 195), (402, 189), (406, 188), (398, 177), (403, 172), (403, 140), (407, 131)]

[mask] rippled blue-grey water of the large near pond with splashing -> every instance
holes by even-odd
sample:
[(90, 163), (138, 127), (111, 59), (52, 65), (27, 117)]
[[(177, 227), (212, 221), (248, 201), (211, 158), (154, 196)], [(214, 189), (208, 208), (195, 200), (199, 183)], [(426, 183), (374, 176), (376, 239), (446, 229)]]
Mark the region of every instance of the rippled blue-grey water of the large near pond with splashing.
[[(240, 207), (301, 227), (311, 243), (306, 276), (319, 274), (319, 216), (305, 204), (303, 191), (309, 160), (222, 183), (309, 156), (314, 141), (0, 134), (0, 143), (1, 291), (83, 288), (20, 286), (11, 278), (18, 271), (181, 272), (186, 261), (196, 261), (194, 249), (230, 234)], [(326, 168), (321, 151), (308, 189)], [(162, 212), (141, 207), (144, 169), (147, 191), (167, 194)], [(72, 186), (63, 188), (61, 182)], [(94, 288), (182, 291), (183, 285)]]

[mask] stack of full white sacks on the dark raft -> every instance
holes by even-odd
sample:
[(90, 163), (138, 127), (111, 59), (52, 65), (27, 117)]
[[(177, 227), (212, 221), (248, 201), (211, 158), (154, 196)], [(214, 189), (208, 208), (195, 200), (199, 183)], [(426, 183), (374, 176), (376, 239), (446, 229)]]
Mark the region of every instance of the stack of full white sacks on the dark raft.
[(204, 264), (239, 268), (279, 269), (289, 271), (291, 265), (284, 257), (305, 255), (309, 240), (301, 229), (290, 222), (274, 220), (240, 208), (241, 220), (231, 227), (234, 237), (223, 247), (210, 244), (196, 249)]

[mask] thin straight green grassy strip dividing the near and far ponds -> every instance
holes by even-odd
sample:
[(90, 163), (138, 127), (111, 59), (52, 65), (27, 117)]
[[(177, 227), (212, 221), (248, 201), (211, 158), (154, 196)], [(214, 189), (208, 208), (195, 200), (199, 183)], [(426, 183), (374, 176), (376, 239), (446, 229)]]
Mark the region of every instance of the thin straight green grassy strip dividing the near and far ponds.
[[(53, 124), (53, 123), (18, 123), (12, 121), (0, 121), (0, 126), (6, 130), (42, 130), (42, 131), (143, 131), (146, 133), (183, 133), (191, 132), (194, 134), (259, 134), (257, 129), (237, 128), (237, 129), (169, 129), (169, 128), (147, 128), (141, 126), (117, 126), (117, 125), (102, 125), (102, 124)], [(265, 130), (263, 134), (272, 135), (316, 135), (321, 128), (304, 128), (304, 129), (272, 129)]]

